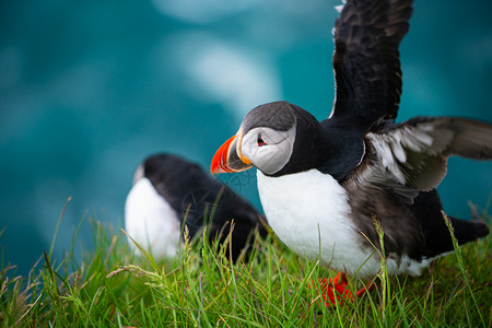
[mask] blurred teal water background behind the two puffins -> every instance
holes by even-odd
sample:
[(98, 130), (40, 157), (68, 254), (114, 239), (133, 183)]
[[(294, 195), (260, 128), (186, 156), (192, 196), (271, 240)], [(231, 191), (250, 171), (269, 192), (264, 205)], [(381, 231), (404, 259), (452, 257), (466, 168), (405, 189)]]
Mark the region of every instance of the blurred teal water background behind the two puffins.
[[(82, 218), (122, 226), (133, 169), (151, 153), (208, 167), (253, 107), (286, 99), (328, 116), (331, 28), (340, 1), (149, 0), (0, 2), (0, 237), (26, 271), (56, 254)], [(400, 47), (399, 120), (492, 121), (492, 2), (417, 1)], [(253, 171), (220, 177), (260, 208)], [(449, 161), (448, 213), (484, 208), (492, 164)], [(91, 248), (89, 225), (78, 245)]]

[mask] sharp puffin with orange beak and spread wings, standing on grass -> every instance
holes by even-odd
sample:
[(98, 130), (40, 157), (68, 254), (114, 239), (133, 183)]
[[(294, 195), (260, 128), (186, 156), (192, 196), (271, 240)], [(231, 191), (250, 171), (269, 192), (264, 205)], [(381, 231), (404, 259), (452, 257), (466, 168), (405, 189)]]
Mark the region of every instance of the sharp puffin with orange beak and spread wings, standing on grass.
[[(396, 121), (402, 87), (398, 47), (412, 1), (343, 2), (332, 30), (336, 91), (329, 116), (318, 121), (284, 101), (260, 105), (211, 162), (212, 174), (257, 168), (261, 206), (278, 237), (297, 255), (340, 271), (328, 281), (331, 295), (324, 295), (331, 302), (333, 290), (348, 295), (347, 274), (376, 277), (382, 257), (388, 274), (420, 276), (453, 251), (435, 189), (447, 159), (492, 157), (488, 122)], [(446, 218), (459, 245), (489, 234), (484, 222)], [(383, 231), (384, 251), (375, 225)]]

